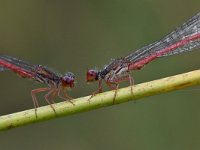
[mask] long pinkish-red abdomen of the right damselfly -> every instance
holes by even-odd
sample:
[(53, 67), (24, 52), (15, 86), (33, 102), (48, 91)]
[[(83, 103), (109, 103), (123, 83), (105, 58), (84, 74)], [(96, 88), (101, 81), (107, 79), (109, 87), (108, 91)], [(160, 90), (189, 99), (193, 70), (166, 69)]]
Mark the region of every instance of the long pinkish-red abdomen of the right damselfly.
[(181, 40), (175, 44), (172, 44), (172, 45), (169, 45), (168, 47), (160, 50), (160, 51), (157, 51), (156, 53), (144, 58), (144, 59), (141, 59), (137, 62), (134, 62), (134, 63), (130, 63), (129, 66), (128, 66), (128, 70), (137, 70), (137, 69), (141, 69), (145, 64), (149, 63), (150, 61), (154, 60), (155, 58), (157, 57), (160, 57), (164, 54), (166, 54), (167, 52), (169, 51), (173, 51), (181, 46), (184, 46), (186, 44), (188, 44), (189, 42), (191, 41), (194, 41), (194, 40), (197, 40), (200, 38), (200, 33), (198, 34), (195, 34), (195, 35), (192, 35), (190, 37), (187, 37), (185, 38), (184, 40)]

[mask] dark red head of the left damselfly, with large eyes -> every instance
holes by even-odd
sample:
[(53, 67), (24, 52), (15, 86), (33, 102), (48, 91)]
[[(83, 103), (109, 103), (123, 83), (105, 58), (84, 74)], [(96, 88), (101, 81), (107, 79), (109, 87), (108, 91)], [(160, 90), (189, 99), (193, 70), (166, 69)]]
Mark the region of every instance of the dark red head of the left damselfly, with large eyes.
[(75, 81), (75, 75), (71, 72), (67, 72), (62, 77), (62, 86), (73, 88), (74, 87), (74, 81)]

